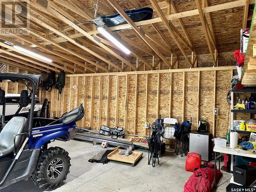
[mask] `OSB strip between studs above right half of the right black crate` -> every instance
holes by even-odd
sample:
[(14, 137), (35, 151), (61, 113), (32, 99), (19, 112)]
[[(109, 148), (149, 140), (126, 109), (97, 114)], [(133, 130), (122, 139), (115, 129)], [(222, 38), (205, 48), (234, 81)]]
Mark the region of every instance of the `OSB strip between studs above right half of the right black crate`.
[(118, 126), (124, 127), (125, 116), (125, 93), (126, 93), (126, 76), (119, 77), (119, 93), (118, 93)]

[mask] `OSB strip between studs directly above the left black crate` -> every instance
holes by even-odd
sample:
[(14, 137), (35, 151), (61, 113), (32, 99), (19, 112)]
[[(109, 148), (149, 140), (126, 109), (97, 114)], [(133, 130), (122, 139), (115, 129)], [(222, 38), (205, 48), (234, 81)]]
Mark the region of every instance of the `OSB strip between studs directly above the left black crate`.
[(108, 110), (108, 82), (109, 76), (102, 76), (102, 101), (101, 101), (101, 124), (106, 125), (106, 114)]

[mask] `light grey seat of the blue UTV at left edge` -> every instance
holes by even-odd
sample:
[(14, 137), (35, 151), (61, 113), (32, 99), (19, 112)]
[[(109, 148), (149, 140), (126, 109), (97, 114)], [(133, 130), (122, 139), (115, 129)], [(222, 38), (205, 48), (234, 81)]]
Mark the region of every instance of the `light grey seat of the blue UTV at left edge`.
[[(13, 117), (4, 126), (0, 133), (0, 157), (5, 156), (14, 150), (14, 136), (24, 132), (27, 118)], [(22, 136), (17, 136), (15, 142), (17, 144), (22, 140)]]

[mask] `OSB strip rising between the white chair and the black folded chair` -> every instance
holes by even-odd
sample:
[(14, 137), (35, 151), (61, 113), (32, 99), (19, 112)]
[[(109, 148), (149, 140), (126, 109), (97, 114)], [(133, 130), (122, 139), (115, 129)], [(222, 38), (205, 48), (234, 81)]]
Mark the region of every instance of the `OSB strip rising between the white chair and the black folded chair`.
[(183, 73), (173, 73), (172, 117), (182, 123)]

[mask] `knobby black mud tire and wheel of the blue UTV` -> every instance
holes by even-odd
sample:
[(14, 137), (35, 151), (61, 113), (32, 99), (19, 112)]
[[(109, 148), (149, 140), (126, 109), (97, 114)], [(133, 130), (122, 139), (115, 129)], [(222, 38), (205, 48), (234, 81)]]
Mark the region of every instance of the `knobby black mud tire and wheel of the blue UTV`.
[[(60, 163), (56, 164), (58, 166), (58, 173), (55, 173), (55, 171), (52, 172), (52, 169), (49, 171), (49, 168), (52, 167), (51, 165), (57, 161)], [(61, 166), (62, 164), (63, 167)], [(38, 188), (54, 189), (59, 187), (62, 182), (67, 179), (70, 166), (71, 164), (68, 152), (60, 147), (50, 147), (40, 155), (36, 169), (31, 178)], [(53, 177), (52, 174), (54, 175)]]

